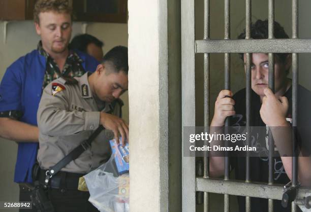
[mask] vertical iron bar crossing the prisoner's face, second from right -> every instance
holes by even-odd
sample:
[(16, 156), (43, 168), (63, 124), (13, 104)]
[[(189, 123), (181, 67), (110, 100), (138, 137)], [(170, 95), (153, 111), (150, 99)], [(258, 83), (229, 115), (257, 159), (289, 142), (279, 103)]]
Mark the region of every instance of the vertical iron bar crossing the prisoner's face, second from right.
[[(268, 3), (268, 38), (274, 38), (274, 0), (269, 0)], [(273, 53), (269, 53), (269, 88), (274, 93), (274, 58)], [(269, 129), (269, 180), (268, 184), (273, 184), (273, 152), (274, 142), (271, 130)], [(268, 211), (273, 212), (273, 199), (268, 200)]]

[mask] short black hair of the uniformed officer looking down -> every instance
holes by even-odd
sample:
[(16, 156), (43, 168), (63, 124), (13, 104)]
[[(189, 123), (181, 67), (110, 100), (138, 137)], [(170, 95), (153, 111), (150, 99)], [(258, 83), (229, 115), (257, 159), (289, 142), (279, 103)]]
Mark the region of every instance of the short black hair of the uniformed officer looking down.
[(103, 57), (103, 63), (105, 62), (111, 62), (112, 65), (114, 66), (116, 73), (123, 71), (125, 72), (125, 74), (128, 74), (129, 72), (128, 47), (116, 46), (112, 48)]

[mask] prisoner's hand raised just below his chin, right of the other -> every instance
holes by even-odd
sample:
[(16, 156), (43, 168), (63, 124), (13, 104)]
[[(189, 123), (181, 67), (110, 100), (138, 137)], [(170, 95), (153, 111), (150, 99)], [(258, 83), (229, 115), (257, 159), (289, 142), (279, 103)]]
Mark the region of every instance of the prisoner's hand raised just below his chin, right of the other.
[(268, 126), (288, 126), (286, 121), (287, 98), (285, 96), (277, 98), (269, 88), (264, 89), (264, 94), (260, 108), (262, 121)]

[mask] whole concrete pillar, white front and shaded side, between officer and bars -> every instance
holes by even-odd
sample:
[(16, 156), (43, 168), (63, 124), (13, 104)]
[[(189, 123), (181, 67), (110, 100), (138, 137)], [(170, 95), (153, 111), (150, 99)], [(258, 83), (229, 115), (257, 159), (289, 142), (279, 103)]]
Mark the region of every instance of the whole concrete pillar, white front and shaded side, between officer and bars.
[(180, 3), (128, 7), (130, 210), (180, 211)]

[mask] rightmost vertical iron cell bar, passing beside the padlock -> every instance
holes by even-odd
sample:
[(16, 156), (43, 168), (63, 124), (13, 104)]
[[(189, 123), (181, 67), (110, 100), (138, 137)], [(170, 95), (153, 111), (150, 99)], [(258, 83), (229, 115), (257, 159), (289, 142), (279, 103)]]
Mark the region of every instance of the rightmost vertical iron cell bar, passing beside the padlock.
[[(292, 38), (298, 38), (298, 1), (292, 0)], [(296, 151), (297, 130), (297, 102), (298, 102), (298, 54), (292, 54), (293, 86), (292, 86), (292, 115), (293, 115), (293, 157), (292, 157), (292, 186), (298, 184), (298, 156)], [(295, 202), (292, 202), (292, 212), (297, 211)]]

